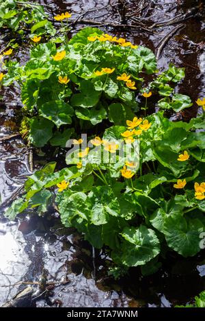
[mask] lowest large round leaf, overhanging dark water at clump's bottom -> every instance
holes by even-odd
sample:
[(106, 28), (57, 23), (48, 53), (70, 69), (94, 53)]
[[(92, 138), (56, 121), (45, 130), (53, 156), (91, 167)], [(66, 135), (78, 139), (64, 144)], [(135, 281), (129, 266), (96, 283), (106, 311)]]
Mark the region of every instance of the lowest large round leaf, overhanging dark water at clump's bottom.
[(160, 244), (153, 229), (144, 225), (124, 227), (120, 251), (112, 253), (113, 260), (126, 266), (146, 264), (159, 254)]

